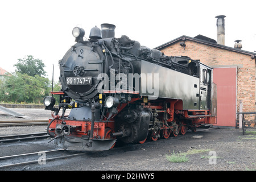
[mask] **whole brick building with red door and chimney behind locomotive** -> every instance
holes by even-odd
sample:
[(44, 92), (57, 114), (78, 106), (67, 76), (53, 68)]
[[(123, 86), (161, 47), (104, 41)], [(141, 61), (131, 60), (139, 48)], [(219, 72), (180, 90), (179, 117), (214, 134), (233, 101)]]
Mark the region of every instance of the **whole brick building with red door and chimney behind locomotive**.
[[(217, 18), (217, 42), (203, 35), (195, 38), (180, 36), (156, 47), (167, 56), (188, 56), (212, 68), (213, 81), (217, 84), (217, 124), (236, 126), (236, 113), (255, 111), (256, 103), (256, 53), (243, 51), (239, 40), (234, 47), (224, 46), (225, 16)], [(222, 34), (218, 20), (222, 20)]]

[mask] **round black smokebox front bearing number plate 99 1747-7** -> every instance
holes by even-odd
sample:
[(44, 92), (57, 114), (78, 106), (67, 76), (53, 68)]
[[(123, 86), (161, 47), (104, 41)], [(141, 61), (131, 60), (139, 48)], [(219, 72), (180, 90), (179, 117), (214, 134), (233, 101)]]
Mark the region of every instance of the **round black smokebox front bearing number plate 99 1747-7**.
[(60, 61), (62, 89), (73, 100), (85, 101), (98, 94), (97, 77), (105, 71), (104, 55), (99, 46), (92, 43), (77, 43)]

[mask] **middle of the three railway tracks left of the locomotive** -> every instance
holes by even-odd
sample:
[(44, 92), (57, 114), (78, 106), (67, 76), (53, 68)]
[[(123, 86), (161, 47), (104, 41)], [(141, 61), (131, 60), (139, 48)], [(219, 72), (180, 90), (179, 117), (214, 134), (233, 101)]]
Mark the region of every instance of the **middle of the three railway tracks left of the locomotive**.
[(4, 135), (0, 136), (0, 143), (3, 142), (16, 142), (20, 140), (42, 139), (48, 138), (49, 135), (46, 132), (43, 133), (30, 133), (30, 134), (18, 134), (18, 135)]

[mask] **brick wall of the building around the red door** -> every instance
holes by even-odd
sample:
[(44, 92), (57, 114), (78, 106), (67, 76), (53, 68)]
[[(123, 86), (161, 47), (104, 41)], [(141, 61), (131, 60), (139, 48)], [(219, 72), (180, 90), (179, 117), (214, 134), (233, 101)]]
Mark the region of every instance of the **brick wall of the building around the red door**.
[(185, 49), (179, 41), (160, 49), (167, 56), (188, 56), (200, 59), (210, 67), (237, 67), (237, 111), (243, 102), (243, 112), (255, 111), (255, 60), (250, 55), (187, 40)]

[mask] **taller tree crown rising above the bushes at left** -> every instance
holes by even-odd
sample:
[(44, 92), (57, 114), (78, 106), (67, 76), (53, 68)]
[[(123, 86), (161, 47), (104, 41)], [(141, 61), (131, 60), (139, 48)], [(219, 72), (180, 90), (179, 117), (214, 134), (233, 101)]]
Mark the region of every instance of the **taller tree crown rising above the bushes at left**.
[(18, 63), (14, 64), (14, 67), (17, 68), (16, 71), (19, 73), (27, 74), (28, 76), (46, 76), (43, 61), (40, 59), (34, 59), (34, 56), (31, 55), (25, 56), (23, 59), (18, 59)]

